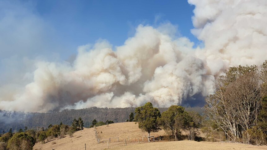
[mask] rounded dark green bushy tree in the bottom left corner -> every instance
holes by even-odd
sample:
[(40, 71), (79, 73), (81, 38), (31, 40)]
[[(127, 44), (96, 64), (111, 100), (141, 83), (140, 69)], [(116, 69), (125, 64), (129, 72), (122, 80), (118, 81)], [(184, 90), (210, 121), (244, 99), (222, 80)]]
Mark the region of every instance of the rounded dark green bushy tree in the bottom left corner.
[(32, 150), (35, 139), (24, 132), (16, 133), (8, 140), (7, 148), (9, 150)]

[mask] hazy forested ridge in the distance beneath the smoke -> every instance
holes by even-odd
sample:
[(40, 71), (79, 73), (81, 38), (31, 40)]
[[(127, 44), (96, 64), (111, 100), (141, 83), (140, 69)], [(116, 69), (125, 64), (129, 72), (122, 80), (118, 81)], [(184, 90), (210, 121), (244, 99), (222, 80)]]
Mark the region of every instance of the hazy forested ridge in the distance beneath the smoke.
[[(168, 108), (159, 108), (160, 112), (166, 111)], [(203, 114), (203, 107), (188, 107), (186, 111), (196, 111)], [(112, 120), (114, 122), (125, 122), (129, 119), (129, 114), (134, 112), (135, 108), (97, 108), (90, 107), (85, 109), (65, 109), (61, 112), (53, 113), (23, 113), (14, 111), (0, 110), (0, 133), (8, 132), (10, 128), (13, 131), (18, 131), (20, 128), (28, 129), (39, 127), (47, 128), (49, 124), (71, 125), (73, 118), (81, 117), (84, 121), (84, 126), (89, 127), (91, 122)]]

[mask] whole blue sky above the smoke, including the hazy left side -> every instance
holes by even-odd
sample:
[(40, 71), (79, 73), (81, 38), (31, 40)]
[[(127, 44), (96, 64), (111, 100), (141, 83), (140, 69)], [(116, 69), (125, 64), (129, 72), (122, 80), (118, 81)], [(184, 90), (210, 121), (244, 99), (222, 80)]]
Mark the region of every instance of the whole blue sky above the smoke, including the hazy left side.
[(194, 6), (186, 0), (35, 0), (0, 2), (1, 65), (15, 57), (68, 59), (77, 47), (98, 39), (122, 45), (139, 24), (178, 25), (182, 36), (199, 43), (191, 33)]

